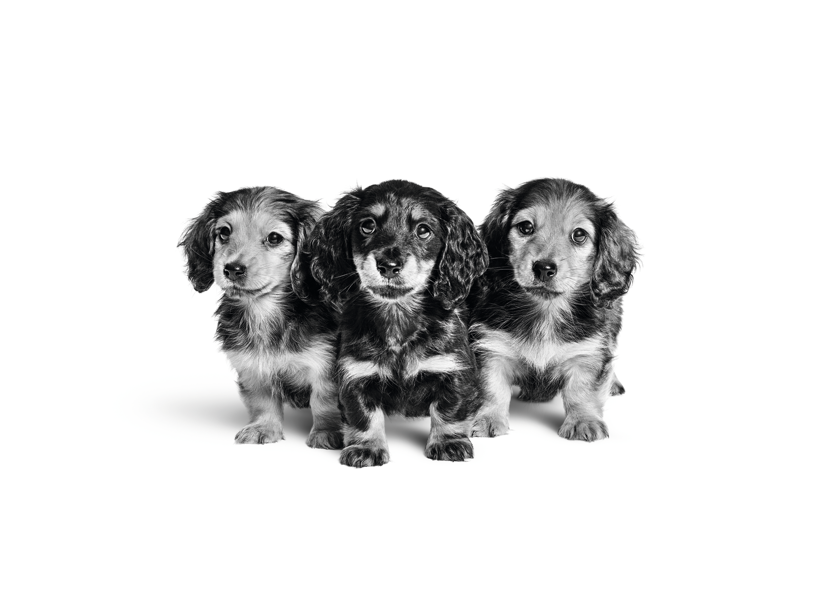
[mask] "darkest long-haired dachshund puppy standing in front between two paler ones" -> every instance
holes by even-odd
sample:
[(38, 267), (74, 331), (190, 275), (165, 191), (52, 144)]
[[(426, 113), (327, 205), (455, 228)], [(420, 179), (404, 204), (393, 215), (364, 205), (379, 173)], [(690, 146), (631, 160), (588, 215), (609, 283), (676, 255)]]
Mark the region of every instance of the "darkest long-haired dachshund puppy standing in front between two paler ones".
[(339, 315), (342, 464), (388, 462), (386, 413), (431, 416), (427, 457), (473, 457), (465, 299), (487, 261), (471, 219), (436, 190), (390, 180), (347, 192), (311, 244), (312, 277)]

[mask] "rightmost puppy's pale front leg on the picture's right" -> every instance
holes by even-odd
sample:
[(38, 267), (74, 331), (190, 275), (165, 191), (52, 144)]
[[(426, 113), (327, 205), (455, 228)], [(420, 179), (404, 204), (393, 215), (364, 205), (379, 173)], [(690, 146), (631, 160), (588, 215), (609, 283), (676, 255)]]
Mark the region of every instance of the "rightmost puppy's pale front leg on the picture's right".
[(568, 440), (595, 442), (608, 437), (601, 410), (611, 390), (613, 372), (607, 369), (597, 377), (598, 367), (581, 362), (565, 368), (566, 386), (561, 392), (566, 417), (558, 435)]

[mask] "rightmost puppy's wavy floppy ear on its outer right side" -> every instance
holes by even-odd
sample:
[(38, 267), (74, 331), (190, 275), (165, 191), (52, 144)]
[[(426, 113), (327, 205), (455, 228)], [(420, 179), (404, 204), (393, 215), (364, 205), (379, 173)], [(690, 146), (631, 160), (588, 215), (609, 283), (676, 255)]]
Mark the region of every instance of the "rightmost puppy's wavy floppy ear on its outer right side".
[(631, 287), (638, 262), (636, 235), (604, 204), (597, 217), (596, 261), (591, 278), (591, 297), (596, 307), (613, 307)]

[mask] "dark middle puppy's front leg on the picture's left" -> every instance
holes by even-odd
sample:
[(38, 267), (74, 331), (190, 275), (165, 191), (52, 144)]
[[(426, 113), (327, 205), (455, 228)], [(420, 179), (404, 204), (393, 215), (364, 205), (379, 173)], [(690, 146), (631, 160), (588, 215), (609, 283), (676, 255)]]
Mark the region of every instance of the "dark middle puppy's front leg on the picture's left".
[(360, 378), (342, 386), (339, 399), (347, 428), (340, 462), (347, 467), (381, 467), (391, 459), (377, 380)]

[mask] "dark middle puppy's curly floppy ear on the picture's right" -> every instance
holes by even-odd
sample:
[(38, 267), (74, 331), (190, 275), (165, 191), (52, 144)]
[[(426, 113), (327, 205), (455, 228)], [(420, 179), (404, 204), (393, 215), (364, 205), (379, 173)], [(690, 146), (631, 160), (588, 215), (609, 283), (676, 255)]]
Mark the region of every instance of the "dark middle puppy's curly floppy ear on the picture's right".
[(444, 209), (446, 242), (436, 265), (431, 294), (443, 307), (452, 309), (466, 298), (471, 283), (486, 272), (489, 258), (469, 216), (451, 202)]

